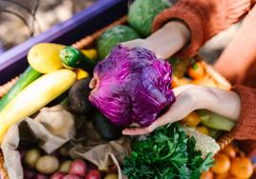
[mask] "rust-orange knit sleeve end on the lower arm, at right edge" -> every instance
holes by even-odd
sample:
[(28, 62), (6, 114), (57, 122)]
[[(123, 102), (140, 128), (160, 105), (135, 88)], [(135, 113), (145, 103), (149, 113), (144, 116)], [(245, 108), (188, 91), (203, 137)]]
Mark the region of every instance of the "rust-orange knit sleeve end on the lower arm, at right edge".
[(239, 120), (231, 134), (238, 140), (256, 140), (256, 89), (239, 85), (232, 90), (240, 95), (241, 110)]

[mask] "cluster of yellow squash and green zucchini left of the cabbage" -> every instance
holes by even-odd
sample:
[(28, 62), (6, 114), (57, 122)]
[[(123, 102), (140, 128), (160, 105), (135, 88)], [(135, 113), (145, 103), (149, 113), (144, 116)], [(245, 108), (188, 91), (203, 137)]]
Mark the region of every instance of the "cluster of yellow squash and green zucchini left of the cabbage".
[[(28, 53), (30, 67), (0, 100), (0, 143), (11, 125), (31, 116), (73, 86), (76, 74), (73, 70), (64, 69), (60, 59), (60, 50), (63, 49), (74, 58), (79, 55), (76, 62), (83, 60), (83, 63), (90, 64), (87, 70), (94, 68), (95, 63), (89, 57), (96, 58), (96, 50), (76, 54), (74, 48), (66, 50), (65, 46), (58, 44), (33, 46)], [(79, 68), (78, 65), (75, 68)]]

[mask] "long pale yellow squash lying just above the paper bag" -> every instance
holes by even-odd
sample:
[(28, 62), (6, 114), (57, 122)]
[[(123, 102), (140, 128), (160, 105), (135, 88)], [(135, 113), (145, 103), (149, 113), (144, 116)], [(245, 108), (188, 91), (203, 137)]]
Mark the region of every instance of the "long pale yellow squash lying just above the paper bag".
[(43, 108), (75, 83), (72, 70), (55, 70), (45, 74), (23, 89), (0, 112), (0, 143), (7, 130), (15, 123)]

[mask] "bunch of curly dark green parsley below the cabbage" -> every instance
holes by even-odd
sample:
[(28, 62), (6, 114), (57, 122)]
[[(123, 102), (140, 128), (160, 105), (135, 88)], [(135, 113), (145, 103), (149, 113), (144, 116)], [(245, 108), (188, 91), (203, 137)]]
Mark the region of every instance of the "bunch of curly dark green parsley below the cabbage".
[(196, 140), (178, 123), (156, 129), (146, 140), (133, 145), (124, 160), (123, 173), (129, 179), (198, 179), (213, 165), (212, 153), (203, 158)]

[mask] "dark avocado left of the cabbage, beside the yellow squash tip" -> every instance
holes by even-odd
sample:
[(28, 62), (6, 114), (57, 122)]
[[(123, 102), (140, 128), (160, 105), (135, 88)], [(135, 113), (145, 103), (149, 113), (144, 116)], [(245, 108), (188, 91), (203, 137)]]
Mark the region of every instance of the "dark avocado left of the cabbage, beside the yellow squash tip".
[(75, 82), (74, 86), (69, 91), (69, 106), (76, 114), (87, 114), (93, 109), (89, 102), (89, 88), (91, 78), (83, 78)]

